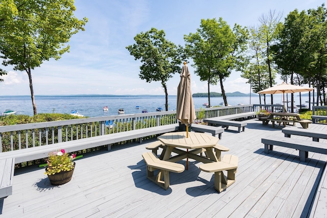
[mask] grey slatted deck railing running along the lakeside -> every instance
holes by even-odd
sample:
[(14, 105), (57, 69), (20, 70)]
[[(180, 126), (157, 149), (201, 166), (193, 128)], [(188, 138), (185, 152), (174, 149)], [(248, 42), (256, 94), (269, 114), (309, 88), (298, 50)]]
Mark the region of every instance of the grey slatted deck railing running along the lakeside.
[[(283, 106), (224, 106), (196, 109), (196, 114), (200, 121), (204, 118), (259, 111), (261, 108), (274, 111), (274, 108), (281, 109), (281, 107)], [(176, 111), (161, 111), (0, 126), (0, 144), (2, 144), (0, 152), (175, 123), (177, 123)]]

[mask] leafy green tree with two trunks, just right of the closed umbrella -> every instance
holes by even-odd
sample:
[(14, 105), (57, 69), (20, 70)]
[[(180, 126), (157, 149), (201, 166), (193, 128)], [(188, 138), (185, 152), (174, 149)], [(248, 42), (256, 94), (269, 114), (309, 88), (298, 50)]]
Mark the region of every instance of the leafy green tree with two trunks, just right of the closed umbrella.
[(247, 36), (246, 28), (235, 24), (231, 30), (221, 17), (219, 21), (215, 18), (201, 19), (196, 33), (184, 35), (185, 52), (193, 58), (195, 74), (201, 81), (207, 81), (209, 106), (210, 85), (216, 85), (218, 80), (224, 103), (228, 105), (223, 81), (229, 77), (231, 70), (240, 70), (244, 65)]

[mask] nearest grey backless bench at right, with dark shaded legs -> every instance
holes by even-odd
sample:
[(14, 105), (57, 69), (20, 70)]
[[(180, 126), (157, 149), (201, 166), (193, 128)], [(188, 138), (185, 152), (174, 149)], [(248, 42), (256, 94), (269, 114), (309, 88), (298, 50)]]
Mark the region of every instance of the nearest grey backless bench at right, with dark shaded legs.
[(273, 146), (296, 149), (299, 151), (300, 161), (306, 161), (308, 152), (327, 154), (327, 144), (317, 141), (303, 141), (288, 137), (269, 136), (269, 138), (262, 138), (261, 142), (265, 144), (265, 153), (272, 151)]

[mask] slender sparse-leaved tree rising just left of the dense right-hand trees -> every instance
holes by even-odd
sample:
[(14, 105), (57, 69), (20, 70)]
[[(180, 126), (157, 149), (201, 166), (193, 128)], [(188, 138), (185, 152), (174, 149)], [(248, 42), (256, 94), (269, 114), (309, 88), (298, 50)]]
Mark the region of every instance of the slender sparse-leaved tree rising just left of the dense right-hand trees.
[[(270, 87), (273, 86), (273, 72), (272, 72), (272, 56), (270, 54), (270, 47), (276, 43), (276, 37), (279, 31), (279, 27), (281, 22), (279, 22), (282, 18), (283, 14), (278, 13), (275, 14), (275, 11), (269, 11), (268, 14), (263, 14), (259, 17), (259, 21), (261, 26), (259, 27), (261, 40), (265, 44), (265, 56), (266, 56), (266, 64), (268, 66), (268, 73), (269, 73), (269, 85)], [(271, 104), (273, 104), (273, 95), (271, 94)]]

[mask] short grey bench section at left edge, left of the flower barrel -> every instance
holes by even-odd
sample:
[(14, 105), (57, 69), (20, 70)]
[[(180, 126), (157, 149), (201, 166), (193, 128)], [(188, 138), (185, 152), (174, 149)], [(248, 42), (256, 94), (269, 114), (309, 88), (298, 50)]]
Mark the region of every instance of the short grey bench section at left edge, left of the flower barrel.
[(12, 195), (14, 168), (14, 158), (0, 160), (0, 201)]

